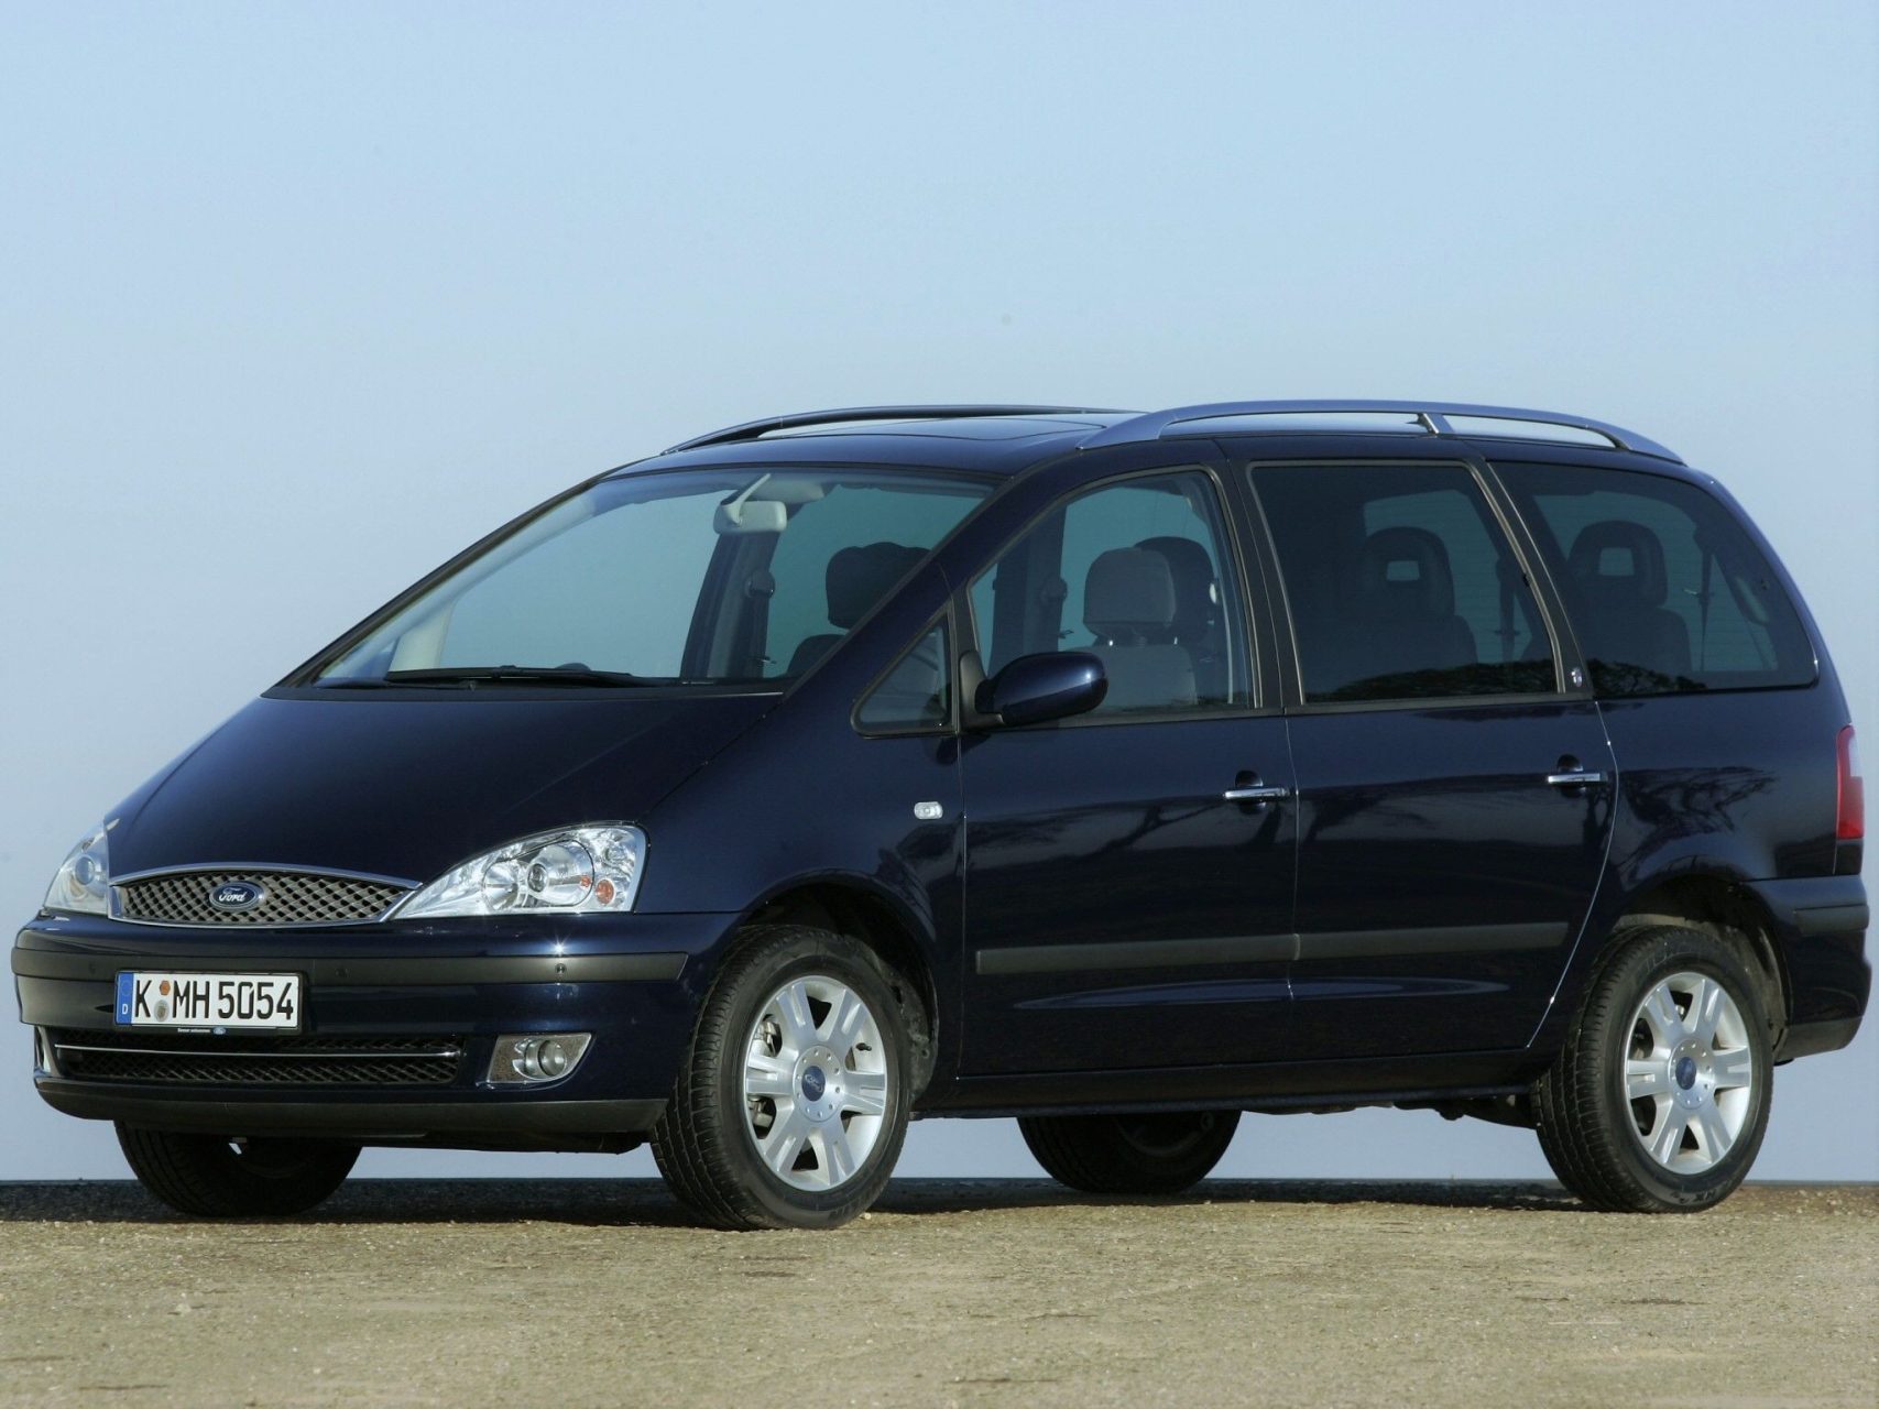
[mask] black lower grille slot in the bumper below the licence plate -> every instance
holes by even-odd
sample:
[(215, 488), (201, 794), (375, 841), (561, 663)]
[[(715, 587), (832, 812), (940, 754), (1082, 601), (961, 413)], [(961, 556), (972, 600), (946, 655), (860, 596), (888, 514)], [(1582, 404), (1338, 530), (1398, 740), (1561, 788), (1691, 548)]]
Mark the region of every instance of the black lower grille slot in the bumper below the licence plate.
[(447, 1086), (457, 1037), (194, 1037), (51, 1031), (62, 1076), (179, 1086)]

